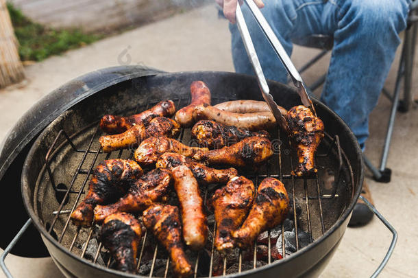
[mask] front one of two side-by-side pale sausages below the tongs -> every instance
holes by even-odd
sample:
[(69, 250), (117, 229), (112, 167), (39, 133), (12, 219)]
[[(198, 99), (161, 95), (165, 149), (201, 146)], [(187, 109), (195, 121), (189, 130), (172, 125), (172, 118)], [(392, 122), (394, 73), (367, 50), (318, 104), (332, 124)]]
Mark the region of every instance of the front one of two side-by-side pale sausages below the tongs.
[(201, 104), (193, 110), (193, 120), (212, 119), (221, 124), (245, 128), (248, 130), (262, 130), (276, 126), (275, 118), (271, 112), (232, 113), (223, 111), (209, 104)]

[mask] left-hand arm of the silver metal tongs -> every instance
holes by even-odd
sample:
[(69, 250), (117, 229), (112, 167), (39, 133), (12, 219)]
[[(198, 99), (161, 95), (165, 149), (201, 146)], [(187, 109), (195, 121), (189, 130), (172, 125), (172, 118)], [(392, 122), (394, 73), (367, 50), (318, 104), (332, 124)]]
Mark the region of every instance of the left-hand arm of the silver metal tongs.
[(241, 38), (243, 38), (243, 43), (245, 46), (245, 50), (247, 51), (248, 58), (253, 66), (254, 72), (256, 73), (256, 77), (258, 80), (258, 85), (260, 86), (262, 97), (267, 102), (271, 113), (275, 117), (276, 122), (283, 128), (286, 132), (289, 133), (289, 128), (286, 119), (280, 112), (278, 108), (278, 104), (276, 104), (273, 100), (273, 97), (270, 95), (269, 85), (267, 84), (267, 80), (265, 78), (264, 73), (262, 72), (262, 68), (260, 65), (260, 61), (258, 60), (256, 49), (254, 48), (253, 41), (251, 40), (251, 36), (248, 31), (247, 24), (245, 23), (243, 12), (241, 11), (241, 7), (239, 3), (236, 4), (236, 24), (238, 25), (238, 30), (241, 33)]

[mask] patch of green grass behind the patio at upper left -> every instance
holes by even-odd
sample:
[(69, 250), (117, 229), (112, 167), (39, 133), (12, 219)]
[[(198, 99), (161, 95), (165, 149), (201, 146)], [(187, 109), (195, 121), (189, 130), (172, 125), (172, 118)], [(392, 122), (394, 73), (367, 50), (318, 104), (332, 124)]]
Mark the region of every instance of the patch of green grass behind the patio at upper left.
[(21, 60), (40, 61), (51, 55), (88, 45), (101, 38), (97, 34), (85, 34), (81, 30), (58, 30), (34, 23), (20, 10), (8, 3), (14, 33), (19, 40)]

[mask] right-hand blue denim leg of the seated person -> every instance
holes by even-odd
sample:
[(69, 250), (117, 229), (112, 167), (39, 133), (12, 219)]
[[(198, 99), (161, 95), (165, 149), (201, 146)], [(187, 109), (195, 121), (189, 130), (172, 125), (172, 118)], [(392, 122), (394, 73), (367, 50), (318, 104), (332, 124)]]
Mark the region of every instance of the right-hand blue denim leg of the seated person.
[(321, 101), (352, 129), (364, 149), (369, 114), (406, 27), (408, 0), (330, 0), (339, 8)]

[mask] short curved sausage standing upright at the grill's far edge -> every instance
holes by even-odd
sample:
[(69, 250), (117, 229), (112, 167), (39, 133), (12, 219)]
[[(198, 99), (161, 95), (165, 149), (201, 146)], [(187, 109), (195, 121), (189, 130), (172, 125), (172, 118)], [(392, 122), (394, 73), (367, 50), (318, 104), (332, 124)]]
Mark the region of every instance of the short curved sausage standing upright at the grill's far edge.
[(182, 127), (189, 127), (193, 124), (193, 110), (199, 104), (210, 104), (210, 91), (203, 81), (194, 81), (190, 85), (192, 100), (190, 104), (175, 113), (175, 120)]

